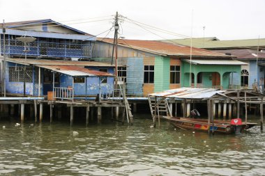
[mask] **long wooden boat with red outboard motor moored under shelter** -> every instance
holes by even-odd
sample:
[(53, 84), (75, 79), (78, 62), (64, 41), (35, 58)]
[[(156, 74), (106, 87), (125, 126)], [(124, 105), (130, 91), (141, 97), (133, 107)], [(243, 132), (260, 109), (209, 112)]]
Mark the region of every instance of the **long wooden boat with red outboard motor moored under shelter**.
[(169, 116), (162, 116), (162, 118), (169, 121), (174, 127), (181, 129), (192, 129), (199, 131), (214, 131), (222, 134), (239, 134), (245, 129), (250, 129), (257, 125), (256, 123), (241, 122), (240, 118), (229, 120), (213, 120), (208, 124), (208, 120), (199, 118), (174, 118)]

